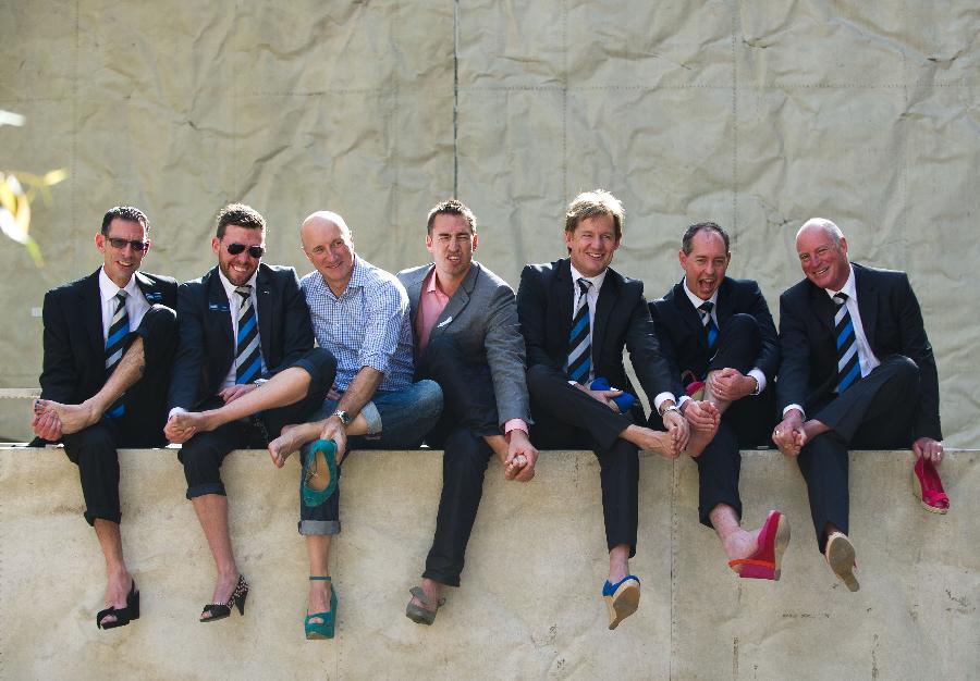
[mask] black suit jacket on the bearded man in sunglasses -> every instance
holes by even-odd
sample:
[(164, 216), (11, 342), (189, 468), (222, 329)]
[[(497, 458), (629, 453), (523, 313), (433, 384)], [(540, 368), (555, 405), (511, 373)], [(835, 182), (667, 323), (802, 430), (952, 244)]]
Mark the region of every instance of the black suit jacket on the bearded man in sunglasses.
[[(269, 377), (314, 346), (309, 308), (293, 268), (259, 264), (256, 277), (259, 339)], [(234, 361), (235, 343), (228, 295), (215, 268), (181, 284), (177, 293), (180, 345), (170, 383), (170, 408), (194, 410), (221, 389)]]

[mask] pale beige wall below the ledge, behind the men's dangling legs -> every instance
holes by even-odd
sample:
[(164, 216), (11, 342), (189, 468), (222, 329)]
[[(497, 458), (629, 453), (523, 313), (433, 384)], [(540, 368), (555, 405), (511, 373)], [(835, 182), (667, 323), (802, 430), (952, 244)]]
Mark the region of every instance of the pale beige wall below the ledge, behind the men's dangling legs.
[(861, 590), (817, 553), (803, 480), (771, 451), (743, 457), (747, 525), (784, 510), (793, 541), (777, 583), (739, 580), (697, 522), (697, 469), (642, 455), (639, 611), (607, 629), (598, 467), (542, 454), (537, 478), (492, 462), (463, 586), (436, 624), (404, 617), (431, 540), (434, 451), (360, 451), (345, 465), (344, 532), (331, 558), (334, 641), (306, 642), (306, 557), (295, 457), (225, 461), (231, 525), (252, 585), (245, 617), (196, 622), (213, 567), (173, 450), (122, 453), (124, 545), (143, 617), (98, 631), (102, 568), (60, 450), (0, 449), (2, 679), (976, 679), (980, 677), (980, 454), (942, 467), (953, 510), (909, 493), (909, 453), (852, 455)]

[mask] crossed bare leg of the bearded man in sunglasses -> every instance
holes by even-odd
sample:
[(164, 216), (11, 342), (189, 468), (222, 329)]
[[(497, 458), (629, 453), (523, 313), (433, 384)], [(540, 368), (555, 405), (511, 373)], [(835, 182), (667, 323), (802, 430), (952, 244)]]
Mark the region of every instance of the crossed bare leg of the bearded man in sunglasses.
[(170, 421), (177, 430), (195, 429), (197, 433), (213, 431), (219, 425), (250, 417), (259, 411), (297, 403), (306, 396), (307, 389), (309, 389), (309, 374), (306, 370), (290, 367), (269, 379), (267, 383), (225, 403), (218, 409), (176, 413)]

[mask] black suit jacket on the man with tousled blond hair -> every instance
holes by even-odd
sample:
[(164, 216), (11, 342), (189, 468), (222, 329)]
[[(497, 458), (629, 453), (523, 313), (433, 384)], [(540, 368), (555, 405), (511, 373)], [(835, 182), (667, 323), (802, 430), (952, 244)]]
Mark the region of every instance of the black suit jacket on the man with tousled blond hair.
[[(549, 264), (529, 264), (520, 273), (517, 289), (517, 315), (527, 347), (527, 366), (544, 364), (562, 370), (568, 357), (572, 331), (572, 265), (567, 258)], [(623, 348), (637, 379), (651, 400), (660, 393), (682, 393), (681, 382), (661, 354), (644, 298), (644, 283), (630, 280), (613, 269), (605, 273), (596, 319), (592, 320), (592, 367), (597, 376), (636, 395), (623, 367)], [(636, 403), (634, 409), (642, 417)]]

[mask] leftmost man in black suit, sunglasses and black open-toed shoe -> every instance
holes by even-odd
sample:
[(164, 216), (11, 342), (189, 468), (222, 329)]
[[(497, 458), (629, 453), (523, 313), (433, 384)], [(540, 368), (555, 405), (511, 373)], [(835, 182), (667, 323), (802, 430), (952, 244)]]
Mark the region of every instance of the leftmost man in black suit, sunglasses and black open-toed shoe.
[(176, 281), (139, 272), (149, 251), (146, 215), (117, 206), (95, 237), (102, 267), (45, 295), (41, 399), (36, 444), (64, 444), (78, 466), (85, 519), (106, 557), (107, 608), (100, 628), (139, 617), (123, 559), (118, 447), (158, 447), (176, 336)]

